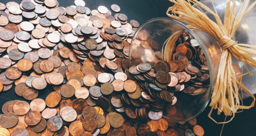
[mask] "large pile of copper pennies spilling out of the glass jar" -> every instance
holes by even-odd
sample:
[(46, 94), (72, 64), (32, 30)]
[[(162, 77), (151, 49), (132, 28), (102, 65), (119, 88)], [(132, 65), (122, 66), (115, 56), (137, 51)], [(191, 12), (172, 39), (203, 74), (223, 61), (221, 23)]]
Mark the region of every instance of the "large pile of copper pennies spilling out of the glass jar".
[[(128, 23), (115, 4), (114, 16), (105, 6), (91, 10), (83, 0), (74, 4), (0, 3), (0, 92), (15, 85), (15, 93), (26, 99), (2, 106), (0, 135), (204, 135), (196, 119), (176, 123), (163, 118), (163, 107), (176, 103), (173, 92), (164, 88), (177, 86), (172, 78), (181, 81), (183, 74), (165, 75), (169, 67), (164, 61), (129, 68), (130, 43), (139, 23)], [(179, 60), (183, 55), (178, 53)], [(141, 82), (146, 77), (155, 83)], [(191, 86), (201, 85), (195, 81)], [(53, 91), (37, 98), (46, 87)]]

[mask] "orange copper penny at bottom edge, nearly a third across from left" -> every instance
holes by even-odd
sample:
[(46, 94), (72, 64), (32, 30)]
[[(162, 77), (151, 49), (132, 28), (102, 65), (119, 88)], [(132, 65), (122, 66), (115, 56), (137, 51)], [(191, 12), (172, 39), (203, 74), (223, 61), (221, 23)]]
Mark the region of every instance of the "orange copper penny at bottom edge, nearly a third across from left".
[(69, 125), (69, 133), (73, 136), (80, 136), (84, 131), (83, 123), (80, 121), (74, 121)]

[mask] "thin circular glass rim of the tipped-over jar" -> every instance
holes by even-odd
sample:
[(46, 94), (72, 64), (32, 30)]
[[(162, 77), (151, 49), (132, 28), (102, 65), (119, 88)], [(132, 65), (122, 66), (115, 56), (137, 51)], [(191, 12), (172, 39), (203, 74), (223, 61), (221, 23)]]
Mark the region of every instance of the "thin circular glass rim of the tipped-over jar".
[[(208, 67), (209, 67), (209, 74), (210, 74), (210, 85), (209, 85), (209, 87), (206, 89), (206, 90), (208, 90), (209, 89), (209, 91), (207, 92), (204, 92), (204, 93), (206, 93), (205, 95), (207, 95), (207, 97), (204, 97), (204, 102), (203, 102), (203, 104), (201, 104), (201, 106), (200, 106), (200, 110), (199, 111), (197, 111), (197, 113), (193, 116), (193, 117), (190, 117), (190, 118), (186, 118), (186, 119), (183, 119), (183, 120), (173, 120), (173, 119), (169, 119), (168, 117), (165, 117), (165, 116), (163, 116), (165, 119), (167, 119), (167, 120), (170, 120), (170, 121), (175, 121), (175, 122), (185, 122), (185, 121), (189, 121), (189, 120), (192, 120), (192, 119), (194, 119), (194, 118), (196, 118), (199, 114), (201, 114), (202, 112), (203, 112), (203, 110), (206, 108), (206, 106), (208, 105), (208, 102), (209, 102), (209, 100), (210, 100), (210, 97), (211, 97), (211, 90), (212, 90), (212, 86), (213, 86), (213, 71), (212, 71), (212, 60), (211, 60), (211, 57), (210, 57), (210, 55), (208, 54), (208, 51), (207, 51), (207, 48), (206, 48), (206, 46), (202, 46), (203, 45), (203, 41), (201, 41), (201, 39), (198, 37), (198, 35), (196, 35), (191, 29), (189, 29), (186, 25), (184, 25), (183, 23), (181, 23), (181, 22), (179, 22), (179, 21), (177, 21), (177, 20), (174, 20), (174, 19), (172, 19), (172, 18), (167, 18), (167, 17), (157, 17), (157, 18), (152, 18), (152, 19), (150, 19), (150, 20), (148, 20), (146, 23), (144, 23), (144, 24), (142, 24), (138, 29), (137, 29), (137, 31), (135, 32), (135, 34), (134, 34), (134, 37), (133, 37), (133, 39), (132, 39), (132, 41), (131, 41), (131, 45), (132, 45), (132, 43), (133, 43), (133, 41), (134, 41), (134, 39), (135, 39), (135, 37), (136, 37), (136, 34), (140, 31), (140, 30), (143, 30), (142, 28), (144, 28), (145, 26), (147, 26), (147, 25), (149, 25), (150, 23), (152, 23), (152, 22), (154, 22), (154, 21), (171, 21), (171, 23), (173, 23), (173, 24), (177, 24), (177, 25), (179, 25), (179, 26), (181, 26), (182, 27), (182, 29), (184, 30), (184, 31), (188, 31), (188, 33), (190, 33), (193, 37), (194, 37), (194, 39), (196, 39), (198, 42), (199, 42), (199, 44), (200, 44), (200, 47), (201, 47), (201, 49), (202, 49), (202, 51), (203, 51), (203, 53), (204, 53), (204, 55), (205, 55), (205, 59), (206, 59), (206, 61), (207, 61), (207, 64), (208, 64)], [(169, 37), (170, 37), (171, 35), (169, 35)], [(164, 51), (164, 47), (165, 47), (165, 45), (160, 45), (160, 46), (162, 46), (162, 52)], [(132, 55), (132, 51), (131, 51), (131, 49), (130, 49), (130, 51), (129, 51), (129, 56), (131, 56)], [(131, 57), (129, 58), (129, 59), (131, 59)], [(162, 58), (163, 59), (163, 58)], [(131, 65), (131, 61), (129, 61), (129, 66), (132, 66)], [(203, 94), (204, 94), (203, 93)]]

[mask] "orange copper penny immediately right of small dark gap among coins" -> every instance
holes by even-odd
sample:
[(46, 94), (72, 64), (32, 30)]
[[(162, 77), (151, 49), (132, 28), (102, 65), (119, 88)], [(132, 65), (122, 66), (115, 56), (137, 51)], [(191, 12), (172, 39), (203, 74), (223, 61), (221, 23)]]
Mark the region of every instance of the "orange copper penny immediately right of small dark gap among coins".
[(52, 92), (45, 98), (45, 103), (48, 107), (55, 107), (58, 105), (60, 101), (60, 96), (56, 92)]

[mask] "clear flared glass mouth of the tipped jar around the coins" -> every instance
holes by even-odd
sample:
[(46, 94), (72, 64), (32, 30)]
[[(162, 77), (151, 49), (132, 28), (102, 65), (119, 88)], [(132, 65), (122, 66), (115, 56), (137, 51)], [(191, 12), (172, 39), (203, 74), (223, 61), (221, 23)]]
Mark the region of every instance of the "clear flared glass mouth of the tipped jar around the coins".
[[(180, 92), (174, 94), (177, 98), (177, 103), (174, 105), (167, 104), (163, 117), (176, 122), (184, 122), (195, 118), (205, 109), (210, 100), (221, 57), (221, 49), (216, 40), (200, 30), (189, 29), (174, 19), (153, 18), (136, 31), (129, 51), (130, 67), (142, 62), (147, 62), (154, 66), (158, 60), (166, 59), (163, 54), (166, 52), (165, 41), (170, 36), (180, 35), (180, 32), (185, 31), (188, 31), (201, 46), (209, 67), (210, 85), (201, 94), (188, 95)], [(162, 53), (162, 58), (159, 57), (159, 53)]]

